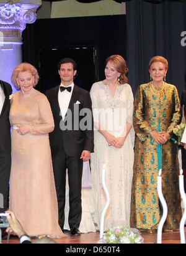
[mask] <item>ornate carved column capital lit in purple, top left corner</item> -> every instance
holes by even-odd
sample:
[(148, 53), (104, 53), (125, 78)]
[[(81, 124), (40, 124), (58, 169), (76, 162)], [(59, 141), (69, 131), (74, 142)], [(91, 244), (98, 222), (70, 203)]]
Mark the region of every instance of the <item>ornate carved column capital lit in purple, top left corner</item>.
[(3, 44), (22, 44), (22, 31), (27, 23), (36, 21), (36, 12), (41, 4), (41, 0), (0, 0), (0, 37), (3, 34)]

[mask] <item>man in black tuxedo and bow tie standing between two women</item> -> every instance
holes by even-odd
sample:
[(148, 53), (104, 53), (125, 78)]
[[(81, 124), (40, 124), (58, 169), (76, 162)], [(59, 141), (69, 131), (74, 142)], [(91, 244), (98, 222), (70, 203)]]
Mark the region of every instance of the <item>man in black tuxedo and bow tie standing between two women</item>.
[(58, 197), (59, 224), (63, 230), (66, 190), (66, 168), (69, 183), (69, 216), (71, 235), (80, 235), (81, 179), (83, 161), (94, 151), (92, 102), (89, 92), (74, 85), (77, 73), (74, 60), (64, 58), (58, 64), (60, 87), (46, 92), (51, 105), (55, 130), (50, 133), (50, 146)]

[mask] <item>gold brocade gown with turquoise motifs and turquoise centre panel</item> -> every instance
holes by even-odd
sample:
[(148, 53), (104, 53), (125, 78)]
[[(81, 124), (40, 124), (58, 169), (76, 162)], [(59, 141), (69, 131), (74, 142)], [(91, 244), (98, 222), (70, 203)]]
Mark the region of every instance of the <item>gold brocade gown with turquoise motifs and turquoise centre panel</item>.
[[(177, 88), (164, 83), (157, 90), (153, 83), (140, 85), (136, 92), (133, 126), (136, 132), (135, 163), (131, 192), (131, 227), (157, 229), (161, 205), (157, 195), (157, 176), (162, 169), (162, 192), (168, 216), (164, 229), (178, 229), (182, 210), (179, 195), (179, 161), (173, 128), (180, 123)], [(160, 145), (151, 131), (167, 131), (170, 139)]]

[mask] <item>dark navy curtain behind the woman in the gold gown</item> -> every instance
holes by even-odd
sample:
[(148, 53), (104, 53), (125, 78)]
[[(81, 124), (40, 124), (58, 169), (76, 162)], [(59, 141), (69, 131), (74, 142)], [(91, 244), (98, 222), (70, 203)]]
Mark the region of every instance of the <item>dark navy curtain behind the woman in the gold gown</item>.
[(176, 85), (179, 95), (184, 90), (186, 46), (181, 45), (181, 33), (186, 31), (185, 13), (184, 2), (126, 2), (128, 78), (134, 93), (139, 84), (149, 82), (148, 64), (154, 55), (166, 57), (167, 82)]

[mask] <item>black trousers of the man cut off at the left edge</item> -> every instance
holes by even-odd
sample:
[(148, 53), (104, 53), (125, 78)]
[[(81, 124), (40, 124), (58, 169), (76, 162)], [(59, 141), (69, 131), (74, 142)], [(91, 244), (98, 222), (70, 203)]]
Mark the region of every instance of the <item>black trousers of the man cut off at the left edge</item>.
[(11, 173), (11, 153), (0, 152), (0, 212), (9, 207), (9, 178)]

